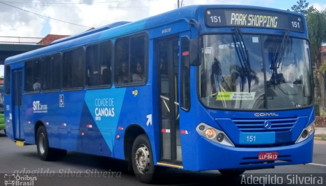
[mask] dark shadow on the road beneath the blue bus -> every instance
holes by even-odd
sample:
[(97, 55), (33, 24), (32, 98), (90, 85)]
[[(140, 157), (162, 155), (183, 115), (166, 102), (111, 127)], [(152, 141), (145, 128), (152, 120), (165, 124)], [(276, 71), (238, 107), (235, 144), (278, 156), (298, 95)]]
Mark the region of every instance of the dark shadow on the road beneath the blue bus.
[[(133, 173), (128, 170), (127, 162), (123, 160), (77, 152), (69, 152), (67, 156), (63, 160), (61, 160), (61, 162), (63, 162), (66, 166), (78, 165), (91, 167), (91, 169), (96, 169), (97, 171), (121, 172), (122, 178), (125, 177), (127, 179), (134, 179), (134, 181), (138, 181), (135, 177), (130, 177), (133, 175)], [(212, 182), (219, 183), (221, 185), (240, 185), (241, 176), (227, 177), (221, 175), (218, 171), (195, 172), (158, 167), (154, 184), (203, 185), (210, 184)]]

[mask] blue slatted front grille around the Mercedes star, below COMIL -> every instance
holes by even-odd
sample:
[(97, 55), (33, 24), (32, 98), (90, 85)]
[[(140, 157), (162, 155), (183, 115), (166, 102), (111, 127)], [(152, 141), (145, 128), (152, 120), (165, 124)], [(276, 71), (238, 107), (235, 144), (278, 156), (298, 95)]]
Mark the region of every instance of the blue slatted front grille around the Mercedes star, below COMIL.
[[(271, 123), (271, 127), (266, 129), (264, 127), (265, 121)], [(297, 118), (279, 118), (279, 119), (233, 119), (235, 126), (242, 132), (281, 132), (290, 131), (295, 125)]]

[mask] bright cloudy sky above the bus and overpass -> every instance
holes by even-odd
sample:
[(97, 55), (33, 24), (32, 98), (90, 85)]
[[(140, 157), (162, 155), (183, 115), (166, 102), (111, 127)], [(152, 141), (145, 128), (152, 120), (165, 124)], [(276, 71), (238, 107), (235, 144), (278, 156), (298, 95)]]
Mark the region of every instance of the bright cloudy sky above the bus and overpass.
[[(179, 1), (181, 4), (182, 0)], [(253, 5), (287, 10), (291, 9), (297, 1), (183, 0), (182, 6)], [(177, 0), (0, 0), (0, 36), (74, 35), (116, 21), (135, 21), (167, 12), (176, 9), (177, 2)], [(318, 10), (326, 9), (325, 0), (307, 0), (307, 2), (309, 6), (313, 5)]]

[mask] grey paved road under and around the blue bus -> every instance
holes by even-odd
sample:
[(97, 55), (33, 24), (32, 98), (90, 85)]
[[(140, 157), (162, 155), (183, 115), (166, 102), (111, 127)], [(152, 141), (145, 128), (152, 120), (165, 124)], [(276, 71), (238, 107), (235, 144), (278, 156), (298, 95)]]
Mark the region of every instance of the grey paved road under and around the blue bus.
[[(286, 182), (286, 175), (306, 176), (305, 174), (308, 174), (308, 176), (312, 175), (313, 177), (323, 176), (322, 185), (325, 185), (325, 157), (326, 142), (315, 141), (313, 164), (246, 171), (246, 176), (275, 176), (277, 173), (277, 177), (285, 176), (283, 177), (283, 185), (289, 185), (287, 184), (289, 182)], [(4, 173), (29, 173), (28, 171), (34, 171), (34, 174), (38, 174), (38, 179), (33, 182), (34, 185), (145, 185), (138, 182), (133, 175), (126, 173), (125, 170), (126, 165), (123, 161), (75, 152), (68, 152), (63, 160), (57, 162), (43, 162), (38, 158), (35, 145), (18, 147), (4, 135), (3, 131), (0, 131), (0, 185), (4, 184), (4, 176), (2, 176)], [(289, 178), (292, 179), (291, 176)], [(165, 169), (162, 170), (157, 183), (162, 185), (202, 185), (208, 183), (243, 185), (247, 183), (242, 179), (242, 176), (230, 179), (222, 176), (218, 171), (190, 172)], [(240, 184), (241, 181), (243, 184)], [(254, 184), (247, 183), (247, 185)], [(316, 183), (315, 185), (320, 184)]]

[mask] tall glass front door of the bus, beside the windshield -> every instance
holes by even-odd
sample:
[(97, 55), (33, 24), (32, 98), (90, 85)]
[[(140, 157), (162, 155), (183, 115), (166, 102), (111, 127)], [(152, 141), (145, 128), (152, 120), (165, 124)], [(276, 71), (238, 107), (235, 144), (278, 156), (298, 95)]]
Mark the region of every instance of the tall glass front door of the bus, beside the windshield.
[(179, 36), (160, 39), (157, 46), (159, 91), (160, 158), (173, 165), (182, 164), (179, 131)]

